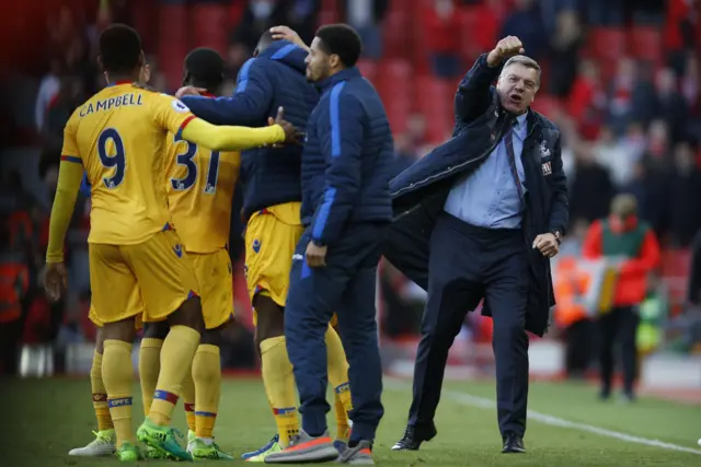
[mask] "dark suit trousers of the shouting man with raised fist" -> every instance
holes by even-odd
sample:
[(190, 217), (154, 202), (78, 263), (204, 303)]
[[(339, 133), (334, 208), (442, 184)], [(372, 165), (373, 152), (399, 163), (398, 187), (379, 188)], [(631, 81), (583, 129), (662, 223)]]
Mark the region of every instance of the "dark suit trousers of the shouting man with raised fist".
[(448, 350), (482, 296), (494, 319), (499, 431), (524, 435), (528, 400), (527, 246), (520, 230), (491, 230), (443, 214), (430, 237), (428, 301), (414, 367), (410, 425), (433, 421)]

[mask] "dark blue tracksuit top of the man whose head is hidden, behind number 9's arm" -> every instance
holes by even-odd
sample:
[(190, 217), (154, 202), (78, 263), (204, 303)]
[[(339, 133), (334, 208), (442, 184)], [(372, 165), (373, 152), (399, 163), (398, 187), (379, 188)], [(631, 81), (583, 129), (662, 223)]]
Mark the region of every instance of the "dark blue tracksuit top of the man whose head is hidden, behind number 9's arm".
[[(215, 125), (264, 127), (267, 117), (285, 108), (285, 119), (306, 131), (319, 91), (307, 82), (307, 51), (287, 42), (274, 42), (243, 65), (231, 97), (183, 97), (198, 117)], [(301, 201), (301, 145), (257, 148), (242, 152), (243, 210), (251, 213), (290, 201)]]

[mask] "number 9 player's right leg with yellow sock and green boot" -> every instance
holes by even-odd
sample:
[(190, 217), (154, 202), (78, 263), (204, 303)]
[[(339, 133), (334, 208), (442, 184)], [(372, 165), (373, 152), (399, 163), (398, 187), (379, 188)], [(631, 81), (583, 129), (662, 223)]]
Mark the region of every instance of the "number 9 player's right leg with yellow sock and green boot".
[(153, 402), (146, 421), (139, 427), (139, 441), (160, 451), (171, 458), (192, 460), (176, 435), (180, 432), (171, 428), (171, 415), (181, 394), (183, 381), (191, 365), (200, 334), (204, 330), (199, 296), (193, 295), (168, 317), (170, 330), (161, 349), (161, 371), (159, 372)]

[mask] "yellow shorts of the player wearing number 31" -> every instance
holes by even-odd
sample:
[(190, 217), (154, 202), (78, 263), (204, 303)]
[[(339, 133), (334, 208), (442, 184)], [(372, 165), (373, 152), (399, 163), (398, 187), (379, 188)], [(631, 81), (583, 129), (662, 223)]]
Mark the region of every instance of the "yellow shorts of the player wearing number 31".
[(207, 329), (215, 329), (233, 317), (233, 279), (229, 252), (189, 253), (199, 283), (202, 313)]

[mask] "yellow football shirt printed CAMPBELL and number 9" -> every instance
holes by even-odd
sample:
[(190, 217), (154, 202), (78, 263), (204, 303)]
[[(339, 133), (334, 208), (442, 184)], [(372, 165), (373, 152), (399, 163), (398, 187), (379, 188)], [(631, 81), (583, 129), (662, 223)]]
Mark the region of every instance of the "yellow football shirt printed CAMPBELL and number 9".
[(62, 161), (82, 163), (92, 185), (88, 242), (145, 242), (171, 220), (166, 135), (195, 116), (179, 100), (117, 83), (76, 109), (64, 131)]

